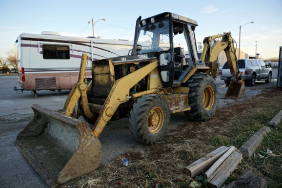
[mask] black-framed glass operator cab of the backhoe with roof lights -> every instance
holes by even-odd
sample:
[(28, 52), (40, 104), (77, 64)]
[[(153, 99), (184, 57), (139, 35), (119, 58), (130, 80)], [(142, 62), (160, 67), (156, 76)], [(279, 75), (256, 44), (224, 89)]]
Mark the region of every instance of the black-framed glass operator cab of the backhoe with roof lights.
[(197, 25), (193, 19), (170, 12), (142, 20), (139, 17), (132, 55), (156, 54), (163, 86), (172, 87), (192, 66), (199, 66), (194, 34)]

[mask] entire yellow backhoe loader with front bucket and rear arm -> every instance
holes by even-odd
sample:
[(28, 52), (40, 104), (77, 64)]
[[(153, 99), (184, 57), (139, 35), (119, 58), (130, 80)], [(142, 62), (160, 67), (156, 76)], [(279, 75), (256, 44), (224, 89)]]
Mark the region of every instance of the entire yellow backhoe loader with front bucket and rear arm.
[[(89, 173), (100, 165), (98, 140), (107, 122), (128, 117), (132, 135), (141, 143), (160, 141), (170, 114), (207, 121), (218, 105), (217, 56), (225, 51), (232, 83), (226, 98), (244, 95), (231, 33), (204, 39), (198, 57), (196, 20), (170, 12), (136, 20), (134, 47), (127, 56), (92, 61), (92, 81), (83, 54), (78, 82), (62, 113), (33, 105), (33, 120), (15, 144), (50, 186)], [(83, 120), (78, 120), (83, 116)]]

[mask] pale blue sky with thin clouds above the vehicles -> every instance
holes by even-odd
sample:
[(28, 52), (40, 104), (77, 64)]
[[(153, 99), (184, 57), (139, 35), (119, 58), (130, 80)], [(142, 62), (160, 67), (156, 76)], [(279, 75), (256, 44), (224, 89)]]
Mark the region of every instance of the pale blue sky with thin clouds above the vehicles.
[(95, 24), (95, 36), (106, 39), (129, 39), (134, 36), (138, 16), (143, 18), (173, 12), (197, 20), (197, 42), (205, 36), (231, 31), (240, 49), (263, 58), (278, 57), (282, 46), (281, 0), (267, 1), (72, 1), (72, 0), (0, 0), (0, 57), (14, 48), (23, 32), (56, 31), (61, 35), (92, 36), (89, 20), (106, 18)]

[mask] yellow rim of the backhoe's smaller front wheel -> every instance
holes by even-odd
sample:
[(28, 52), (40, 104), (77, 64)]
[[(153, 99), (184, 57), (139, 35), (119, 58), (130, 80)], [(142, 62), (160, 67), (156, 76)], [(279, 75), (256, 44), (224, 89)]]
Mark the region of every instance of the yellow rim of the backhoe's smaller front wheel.
[(155, 107), (151, 110), (148, 117), (148, 130), (152, 134), (156, 134), (162, 129), (164, 124), (165, 114), (159, 107)]

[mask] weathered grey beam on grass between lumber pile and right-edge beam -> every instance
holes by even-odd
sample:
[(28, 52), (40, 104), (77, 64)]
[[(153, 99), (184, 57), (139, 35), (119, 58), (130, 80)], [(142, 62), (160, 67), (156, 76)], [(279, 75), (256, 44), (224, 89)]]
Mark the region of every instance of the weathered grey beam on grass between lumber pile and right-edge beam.
[(270, 133), (271, 129), (269, 127), (263, 127), (258, 130), (248, 141), (244, 143), (238, 150), (247, 157), (251, 157), (256, 148), (259, 146), (261, 141), (264, 139), (264, 135)]

